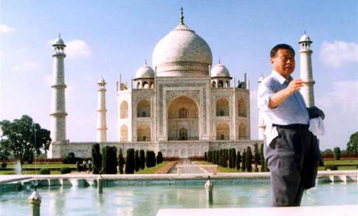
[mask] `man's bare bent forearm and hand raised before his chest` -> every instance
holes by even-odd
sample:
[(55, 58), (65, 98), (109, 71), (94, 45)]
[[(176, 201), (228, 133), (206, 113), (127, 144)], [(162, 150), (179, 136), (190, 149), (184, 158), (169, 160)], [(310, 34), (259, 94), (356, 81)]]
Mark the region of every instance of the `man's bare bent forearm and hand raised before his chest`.
[(294, 79), (289, 83), (289, 86), (286, 88), (279, 90), (277, 93), (274, 93), (269, 101), (269, 107), (276, 108), (281, 104), (281, 102), (284, 102), (287, 97), (293, 95), (295, 91), (300, 90), (300, 88), (303, 86), (302, 79)]

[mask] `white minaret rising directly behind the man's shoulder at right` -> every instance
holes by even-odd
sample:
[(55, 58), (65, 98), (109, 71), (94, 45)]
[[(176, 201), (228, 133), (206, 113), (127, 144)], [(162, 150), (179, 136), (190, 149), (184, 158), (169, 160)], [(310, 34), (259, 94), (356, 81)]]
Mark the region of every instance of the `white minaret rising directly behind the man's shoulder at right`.
[(305, 34), (300, 37), (300, 42), (298, 43), (300, 44), (300, 78), (305, 83), (305, 85), (301, 88), (300, 93), (305, 99), (306, 107), (314, 107), (314, 80), (312, 78), (311, 62), (312, 50), (310, 48), (312, 41), (305, 32)]

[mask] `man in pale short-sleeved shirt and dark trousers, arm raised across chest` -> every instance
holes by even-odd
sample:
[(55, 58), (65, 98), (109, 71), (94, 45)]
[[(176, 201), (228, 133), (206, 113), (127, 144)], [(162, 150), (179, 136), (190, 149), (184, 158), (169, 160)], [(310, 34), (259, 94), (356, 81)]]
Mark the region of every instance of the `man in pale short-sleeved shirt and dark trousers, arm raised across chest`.
[(319, 161), (317, 138), (308, 130), (310, 118), (324, 113), (307, 109), (299, 90), (301, 79), (292, 79), (295, 51), (278, 44), (270, 53), (272, 74), (258, 87), (258, 108), (265, 121), (265, 158), (271, 176), (272, 206), (299, 206), (303, 190), (314, 187)]

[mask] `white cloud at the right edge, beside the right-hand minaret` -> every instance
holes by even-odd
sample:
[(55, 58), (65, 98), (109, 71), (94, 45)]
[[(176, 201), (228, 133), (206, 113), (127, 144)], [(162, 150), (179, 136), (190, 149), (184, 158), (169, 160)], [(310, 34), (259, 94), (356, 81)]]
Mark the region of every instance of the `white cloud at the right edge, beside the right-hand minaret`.
[(320, 50), (321, 61), (331, 67), (343, 67), (347, 63), (358, 62), (358, 43), (324, 41)]

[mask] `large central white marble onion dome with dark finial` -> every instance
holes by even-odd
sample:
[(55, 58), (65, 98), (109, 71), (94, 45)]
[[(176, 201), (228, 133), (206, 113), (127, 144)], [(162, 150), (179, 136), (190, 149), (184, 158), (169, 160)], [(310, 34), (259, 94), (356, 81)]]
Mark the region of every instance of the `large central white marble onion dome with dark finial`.
[(213, 55), (208, 43), (183, 22), (157, 43), (152, 63), (157, 76), (208, 76)]

